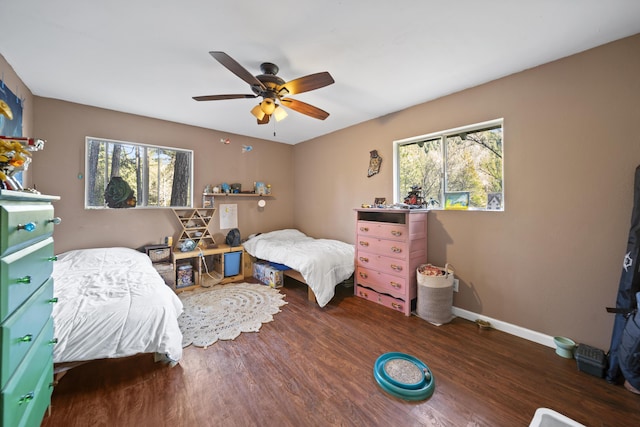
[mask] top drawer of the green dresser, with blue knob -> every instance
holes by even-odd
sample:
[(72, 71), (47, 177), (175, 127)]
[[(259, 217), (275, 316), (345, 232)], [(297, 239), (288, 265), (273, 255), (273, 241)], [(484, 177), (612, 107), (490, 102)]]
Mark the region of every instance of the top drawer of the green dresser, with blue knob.
[(0, 206), (0, 256), (53, 234), (53, 206), (49, 203), (3, 202)]

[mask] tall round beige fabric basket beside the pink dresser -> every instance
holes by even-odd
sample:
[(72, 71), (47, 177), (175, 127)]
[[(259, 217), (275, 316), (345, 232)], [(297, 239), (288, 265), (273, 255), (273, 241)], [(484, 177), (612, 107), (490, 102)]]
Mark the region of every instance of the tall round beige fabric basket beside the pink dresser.
[[(432, 275), (433, 272), (439, 275)], [(418, 267), (418, 317), (434, 325), (449, 323), (453, 318), (453, 268), (446, 264), (444, 268), (431, 264)]]

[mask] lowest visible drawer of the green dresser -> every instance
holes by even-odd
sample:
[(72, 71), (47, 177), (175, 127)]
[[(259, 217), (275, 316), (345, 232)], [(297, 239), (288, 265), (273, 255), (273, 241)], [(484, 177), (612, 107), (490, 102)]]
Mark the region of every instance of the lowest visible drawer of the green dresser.
[[(53, 319), (0, 394), (3, 426), (39, 425), (53, 392)], [(43, 409), (44, 408), (44, 409)], [(35, 411), (35, 412), (34, 412)], [(28, 424), (30, 419), (38, 420)]]

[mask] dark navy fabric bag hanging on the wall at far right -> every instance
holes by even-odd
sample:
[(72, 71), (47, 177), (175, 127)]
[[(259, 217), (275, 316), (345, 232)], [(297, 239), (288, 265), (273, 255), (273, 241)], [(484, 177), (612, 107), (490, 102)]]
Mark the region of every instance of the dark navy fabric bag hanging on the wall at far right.
[[(636, 309), (636, 294), (640, 291), (640, 273), (638, 272), (638, 250), (640, 249), (640, 166), (636, 168), (633, 190), (633, 211), (631, 212), (631, 229), (627, 241), (627, 251), (622, 263), (622, 274), (618, 286), (616, 308), (608, 311), (616, 313), (611, 334), (611, 346), (609, 347), (609, 366), (606, 379), (610, 383), (620, 380), (619, 347), (627, 320), (633, 321), (632, 316)], [(640, 340), (640, 336), (636, 337)], [(631, 337), (626, 337), (627, 345)], [(640, 381), (640, 372), (637, 372)], [(629, 378), (627, 378), (629, 380)]]

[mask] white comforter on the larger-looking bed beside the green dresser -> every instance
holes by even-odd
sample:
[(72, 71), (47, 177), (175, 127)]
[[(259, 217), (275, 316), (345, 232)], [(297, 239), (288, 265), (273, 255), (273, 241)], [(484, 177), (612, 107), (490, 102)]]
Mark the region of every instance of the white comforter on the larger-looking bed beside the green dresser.
[(147, 255), (128, 248), (65, 252), (53, 280), (55, 363), (138, 353), (182, 357), (182, 302)]

